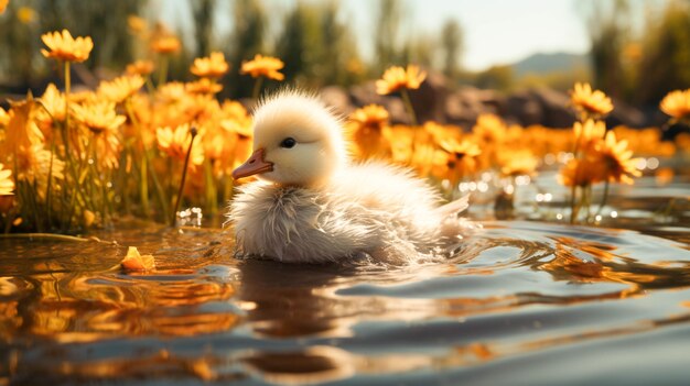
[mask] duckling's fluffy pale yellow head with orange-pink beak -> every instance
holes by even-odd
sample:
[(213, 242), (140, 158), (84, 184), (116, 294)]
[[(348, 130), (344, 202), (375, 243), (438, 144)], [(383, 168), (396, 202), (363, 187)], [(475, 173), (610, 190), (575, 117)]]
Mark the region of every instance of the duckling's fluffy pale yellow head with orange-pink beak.
[(233, 172), (280, 185), (315, 186), (347, 163), (339, 120), (315, 97), (281, 91), (254, 113), (254, 154)]

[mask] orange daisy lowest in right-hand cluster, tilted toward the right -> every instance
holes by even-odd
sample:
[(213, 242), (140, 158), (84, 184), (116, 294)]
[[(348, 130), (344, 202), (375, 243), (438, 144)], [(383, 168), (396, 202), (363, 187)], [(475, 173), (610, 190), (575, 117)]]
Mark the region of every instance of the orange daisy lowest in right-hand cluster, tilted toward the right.
[(611, 131), (606, 139), (599, 143), (595, 152), (589, 154), (590, 161), (596, 165), (594, 172), (597, 181), (633, 184), (632, 177), (642, 173), (635, 167), (637, 158), (632, 158), (633, 151), (627, 148), (627, 141), (616, 141)]

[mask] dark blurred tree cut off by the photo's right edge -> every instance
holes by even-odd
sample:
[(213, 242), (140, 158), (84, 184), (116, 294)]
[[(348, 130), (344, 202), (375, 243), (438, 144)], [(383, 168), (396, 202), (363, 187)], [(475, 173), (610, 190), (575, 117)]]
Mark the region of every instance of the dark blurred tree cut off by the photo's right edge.
[[(635, 53), (633, 53), (635, 54)], [(671, 90), (690, 88), (690, 3), (670, 1), (648, 16), (635, 101), (656, 106)]]

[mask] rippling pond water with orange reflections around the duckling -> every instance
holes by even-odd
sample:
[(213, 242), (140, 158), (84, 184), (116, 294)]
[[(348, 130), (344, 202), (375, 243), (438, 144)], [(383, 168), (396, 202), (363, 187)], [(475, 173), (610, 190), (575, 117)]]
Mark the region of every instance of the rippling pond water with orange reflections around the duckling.
[[(0, 240), (0, 385), (688, 384), (690, 186), (654, 186), (614, 191), (612, 228), (483, 220), (407, 267), (240, 261), (220, 230), (137, 221), (98, 234), (119, 245)], [(121, 272), (127, 245), (157, 271)]]

